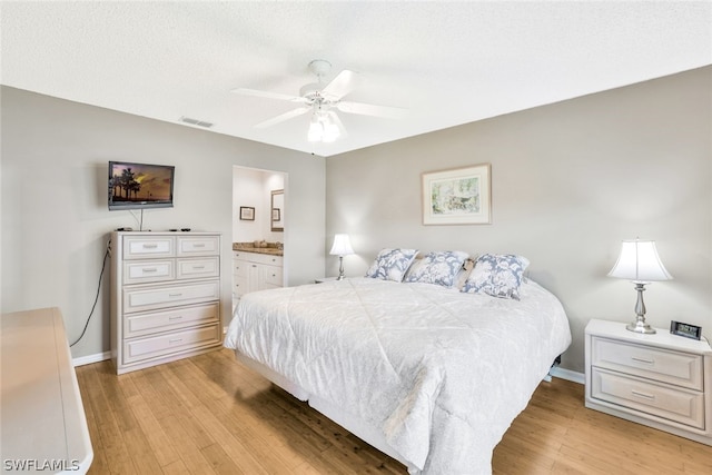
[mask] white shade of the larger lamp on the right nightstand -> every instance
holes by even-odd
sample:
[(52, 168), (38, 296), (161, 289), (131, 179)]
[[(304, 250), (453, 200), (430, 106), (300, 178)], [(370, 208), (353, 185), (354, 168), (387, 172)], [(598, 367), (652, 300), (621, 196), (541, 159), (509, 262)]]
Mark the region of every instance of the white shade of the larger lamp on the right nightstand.
[(634, 283), (672, 279), (657, 256), (655, 241), (639, 239), (622, 243), (621, 255), (609, 276)]

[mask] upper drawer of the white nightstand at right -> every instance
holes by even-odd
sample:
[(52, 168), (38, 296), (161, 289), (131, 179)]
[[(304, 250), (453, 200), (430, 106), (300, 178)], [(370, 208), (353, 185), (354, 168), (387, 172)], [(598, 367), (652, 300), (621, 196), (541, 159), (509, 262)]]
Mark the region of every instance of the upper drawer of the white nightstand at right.
[(691, 389), (703, 388), (702, 356), (607, 338), (591, 338), (591, 364)]

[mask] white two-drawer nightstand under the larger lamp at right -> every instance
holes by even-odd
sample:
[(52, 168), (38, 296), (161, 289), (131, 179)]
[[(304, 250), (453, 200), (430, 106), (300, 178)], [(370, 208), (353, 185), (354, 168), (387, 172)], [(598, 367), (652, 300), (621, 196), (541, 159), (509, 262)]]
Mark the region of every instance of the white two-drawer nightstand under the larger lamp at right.
[(591, 320), (585, 330), (589, 408), (712, 445), (712, 348), (656, 328)]

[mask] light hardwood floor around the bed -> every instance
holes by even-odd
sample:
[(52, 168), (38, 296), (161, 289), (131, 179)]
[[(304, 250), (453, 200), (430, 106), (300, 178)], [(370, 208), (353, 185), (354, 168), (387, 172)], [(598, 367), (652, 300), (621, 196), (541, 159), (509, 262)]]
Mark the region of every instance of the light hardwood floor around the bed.
[[(227, 349), (121, 376), (102, 362), (77, 377), (90, 474), (407, 473)], [(555, 378), (504, 435), (493, 472), (710, 474), (712, 447), (586, 409), (583, 386)]]

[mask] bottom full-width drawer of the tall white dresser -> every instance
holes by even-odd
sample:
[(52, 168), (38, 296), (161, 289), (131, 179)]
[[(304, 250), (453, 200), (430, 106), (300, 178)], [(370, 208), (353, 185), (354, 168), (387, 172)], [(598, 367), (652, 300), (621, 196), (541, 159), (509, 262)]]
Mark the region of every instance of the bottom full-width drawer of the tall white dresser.
[(216, 323), (182, 331), (136, 338), (123, 342), (123, 364), (170, 355), (187, 349), (199, 349), (220, 343), (220, 329)]

